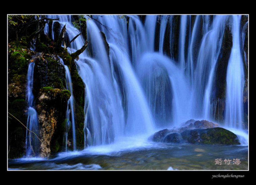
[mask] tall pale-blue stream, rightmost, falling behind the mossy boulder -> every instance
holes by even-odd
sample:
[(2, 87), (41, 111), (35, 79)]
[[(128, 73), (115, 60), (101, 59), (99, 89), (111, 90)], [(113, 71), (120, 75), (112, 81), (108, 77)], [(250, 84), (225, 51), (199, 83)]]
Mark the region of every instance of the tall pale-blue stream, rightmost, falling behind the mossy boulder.
[(244, 122), (243, 88), (244, 66), (240, 51), (240, 19), (241, 16), (233, 16), (232, 38), (233, 47), (227, 69), (227, 97), (226, 97), (226, 125), (231, 128), (242, 128)]

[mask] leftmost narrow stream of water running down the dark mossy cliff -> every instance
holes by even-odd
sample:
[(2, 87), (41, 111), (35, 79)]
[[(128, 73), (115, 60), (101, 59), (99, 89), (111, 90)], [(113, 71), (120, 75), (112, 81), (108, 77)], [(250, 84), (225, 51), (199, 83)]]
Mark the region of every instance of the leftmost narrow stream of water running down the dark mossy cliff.
[[(27, 111), (28, 118), (27, 118), (27, 128), (34, 132), (36, 135), (39, 133), (39, 124), (37, 120), (37, 113), (36, 110), (33, 108), (34, 106), (34, 95), (32, 93), (33, 89), (33, 74), (34, 74), (34, 62), (30, 62), (28, 66), (28, 73), (27, 73), (27, 92), (26, 92), (26, 100), (28, 102), (29, 108)], [(39, 152), (39, 140), (34, 135), (34, 133), (29, 132), (26, 130), (26, 157), (29, 156), (36, 156)]]

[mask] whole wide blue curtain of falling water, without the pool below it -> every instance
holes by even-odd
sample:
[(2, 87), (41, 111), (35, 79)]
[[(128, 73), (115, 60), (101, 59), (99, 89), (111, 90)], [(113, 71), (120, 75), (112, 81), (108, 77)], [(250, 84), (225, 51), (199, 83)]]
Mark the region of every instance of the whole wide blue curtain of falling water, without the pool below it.
[[(84, 131), (89, 146), (152, 134), (190, 119), (214, 120), (221, 109), (226, 111), (229, 126), (243, 121), (240, 17), (233, 16), (225, 103), (218, 98), (211, 102), (211, 96), (216, 91), (218, 58), (230, 16), (183, 15), (179, 21), (175, 16), (159, 18), (147, 15), (142, 21), (140, 16), (129, 15), (123, 20), (108, 15), (87, 20), (89, 44), (75, 62), (86, 86)], [(70, 16), (61, 16), (59, 22), (66, 24), (70, 39), (79, 33)], [(83, 43), (79, 36), (68, 52), (82, 48)]]

